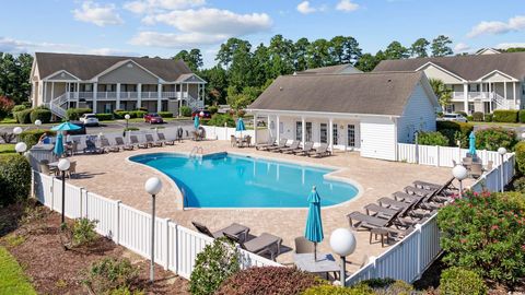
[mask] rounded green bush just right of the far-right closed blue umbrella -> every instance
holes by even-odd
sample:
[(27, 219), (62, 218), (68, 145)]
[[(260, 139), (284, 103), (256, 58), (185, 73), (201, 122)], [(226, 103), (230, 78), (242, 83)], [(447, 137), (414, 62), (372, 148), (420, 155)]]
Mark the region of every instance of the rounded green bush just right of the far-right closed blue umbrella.
[(476, 149), (478, 150), (498, 151), (498, 148), (503, 146), (512, 151), (516, 142), (516, 133), (511, 129), (493, 127), (476, 131)]

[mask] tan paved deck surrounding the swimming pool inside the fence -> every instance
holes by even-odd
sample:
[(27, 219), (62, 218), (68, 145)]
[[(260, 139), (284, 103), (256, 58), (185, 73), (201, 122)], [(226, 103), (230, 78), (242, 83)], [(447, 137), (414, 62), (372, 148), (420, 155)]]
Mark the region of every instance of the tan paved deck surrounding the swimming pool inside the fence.
[[(352, 211), (362, 211), (362, 208), (375, 202), (381, 197), (390, 196), (393, 192), (402, 190), (415, 180), (431, 182), (445, 182), (451, 177), (451, 168), (439, 168), (406, 163), (396, 163), (364, 158), (358, 152), (336, 152), (334, 156), (325, 158), (310, 158), (295, 155), (284, 155), (256, 151), (255, 149), (231, 148), (229, 141), (202, 141), (194, 142), (186, 140), (175, 146), (155, 148), (148, 150), (135, 150), (129, 152), (110, 153), (104, 155), (75, 155), (77, 173), (79, 178), (72, 179), (77, 186), (86, 188), (106, 198), (120, 200), (144, 212), (150, 211), (151, 198), (145, 193), (144, 181), (152, 176), (159, 176), (164, 187), (156, 198), (158, 216), (168, 217), (172, 221), (194, 228), (191, 221), (198, 221), (210, 227), (211, 231), (220, 229), (233, 222), (241, 223), (250, 228), (250, 234), (260, 235), (270, 233), (283, 238), (283, 245), (294, 248), (294, 238), (302, 236), (306, 209), (186, 209), (180, 210), (182, 201), (173, 181), (162, 173), (127, 158), (132, 155), (155, 152), (180, 152), (189, 153), (194, 146), (202, 146), (205, 154), (215, 152), (234, 152), (252, 156), (269, 157), (280, 161), (291, 161), (308, 165), (328, 165), (340, 167), (332, 175), (346, 178), (357, 184), (360, 194), (342, 204), (325, 208), (322, 211), (325, 240), (318, 245), (322, 252), (330, 252), (329, 235), (338, 227), (349, 228), (346, 215)], [(202, 181), (206, 182), (206, 179)], [(213, 190), (212, 187), (209, 188)], [(320, 196), (323, 198), (323, 196)], [(305, 199), (307, 196), (305, 196)], [(364, 211), (363, 211), (364, 212)], [(382, 248), (381, 243), (369, 243), (369, 232), (355, 233), (358, 239), (357, 250), (348, 257), (352, 266), (349, 271), (355, 271), (365, 257), (378, 256), (388, 247)], [(292, 263), (293, 251), (290, 250), (278, 257), (278, 262)]]

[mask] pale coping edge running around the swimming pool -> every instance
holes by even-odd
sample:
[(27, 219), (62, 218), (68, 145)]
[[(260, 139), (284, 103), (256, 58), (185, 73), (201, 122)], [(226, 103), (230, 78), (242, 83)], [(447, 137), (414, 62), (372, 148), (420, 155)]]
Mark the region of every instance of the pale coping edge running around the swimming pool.
[[(141, 154), (136, 154), (136, 155), (130, 155), (130, 156), (127, 156), (126, 157), (126, 161), (131, 163), (131, 164), (138, 164), (138, 165), (141, 165), (141, 166), (144, 166), (144, 167), (148, 167), (150, 169), (153, 169), (160, 174), (162, 174), (164, 176), (164, 178), (167, 178), (168, 179), (168, 182), (172, 185), (172, 187), (175, 189), (176, 191), (176, 199), (180, 200), (180, 204), (182, 204), (182, 210), (184, 211), (189, 211), (189, 210), (232, 210), (232, 211), (238, 211), (238, 210), (308, 210), (308, 208), (299, 208), (299, 206), (293, 206), (293, 208), (288, 208), (288, 206), (276, 206), (276, 208), (265, 208), (265, 206), (243, 206), (243, 208), (231, 208), (231, 206), (218, 206), (218, 208), (199, 208), (199, 206), (185, 206), (185, 201), (184, 201), (184, 194), (183, 192), (180, 191), (180, 189), (178, 188), (177, 184), (175, 182), (175, 180), (173, 180), (170, 176), (167, 176), (165, 173), (154, 168), (154, 167), (151, 167), (149, 165), (145, 165), (145, 164), (142, 164), (142, 163), (139, 163), (139, 162), (135, 162), (132, 160), (130, 160), (131, 157), (138, 157), (138, 156), (143, 156), (143, 155), (151, 155), (151, 154), (175, 154), (175, 155), (184, 155), (184, 156), (191, 156), (191, 153), (189, 152), (147, 152), (147, 153), (141, 153)], [(332, 172), (330, 173), (327, 173), (325, 174), (323, 177), (327, 180), (335, 180), (335, 181), (339, 181), (339, 182), (346, 182), (346, 184), (349, 184), (353, 187), (355, 187), (355, 189), (358, 190), (355, 196), (352, 197), (350, 200), (347, 200), (345, 202), (340, 202), (340, 203), (337, 203), (337, 204), (332, 204), (332, 205), (326, 205), (326, 206), (322, 206), (322, 209), (332, 209), (332, 208), (338, 208), (338, 206), (342, 206), (342, 205), (347, 205), (351, 202), (354, 202), (357, 201), (358, 199), (360, 199), (363, 193), (364, 193), (364, 188), (363, 186), (361, 186), (361, 184), (359, 184), (358, 181), (351, 179), (351, 178), (348, 178), (348, 177), (343, 177), (343, 176), (336, 176), (334, 174), (337, 174), (337, 173), (340, 173), (340, 172), (343, 172), (343, 170), (347, 170), (348, 168), (346, 167), (338, 167), (338, 166), (332, 166), (332, 165), (325, 165), (325, 164), (318, 164), (318, 163), (310, 163), (310, 162), (305, 162), (305, 161), (295, 161), (295, 160), (289, 160), (289, 158), (276, 158), (276, 157), (270, 157), (270, 156), (261, 156), (261, 155), (257, 155), (257, 154), (249, 154), (249, 153), (240, 153), (240, 152), (226, 152), (226, 151), (223, 151), (223, 152), (213, 152), (213, 153), (207, 153), (207, 154), (194, 154), (194, 156), (196, 157), (205, 157), (205, 156), (209, 156), (209, 155), (219, 155), (219, 154), (231, 154), (231, 155), (236, 155), (236, 156), (244, 156), (244, 157), (252, 157), (252, 158), (260, 158), (260, 160), (266, 160), (266, 161), (272, 161), (272, 162), (283, 162), (283, 163), (288, 163), (288, 164), (293, 164), (293, 165), (299, 165), (299, 166), (310, 166), (310, 167), (316, 167), (316, 168), (325, 168), (325, 169), (331, 169)]]

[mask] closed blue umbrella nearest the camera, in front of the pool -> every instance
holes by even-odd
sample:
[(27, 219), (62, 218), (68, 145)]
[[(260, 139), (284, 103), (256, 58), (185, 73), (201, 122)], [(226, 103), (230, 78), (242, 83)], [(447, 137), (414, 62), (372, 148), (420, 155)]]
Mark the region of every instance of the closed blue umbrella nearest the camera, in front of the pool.
[(317, 243), (324, 238), (323, 221), (320, 220), (320, 197), (315, 187), (308, 197), (308, 216), (306, 219), (306, 228), (304, 228), (304, 237), (314, 243), (314, 260), (317, 260)]

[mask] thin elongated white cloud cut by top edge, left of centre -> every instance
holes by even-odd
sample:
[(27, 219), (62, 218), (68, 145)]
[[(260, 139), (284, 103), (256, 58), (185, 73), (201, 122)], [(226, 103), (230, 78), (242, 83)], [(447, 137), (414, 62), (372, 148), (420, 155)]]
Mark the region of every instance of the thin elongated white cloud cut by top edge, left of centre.
[(137, 14), (144, 14), (160, 10), (184, 10), (205, 4), (206, 0), (137, 0), (124, 3), (124, 8)]

